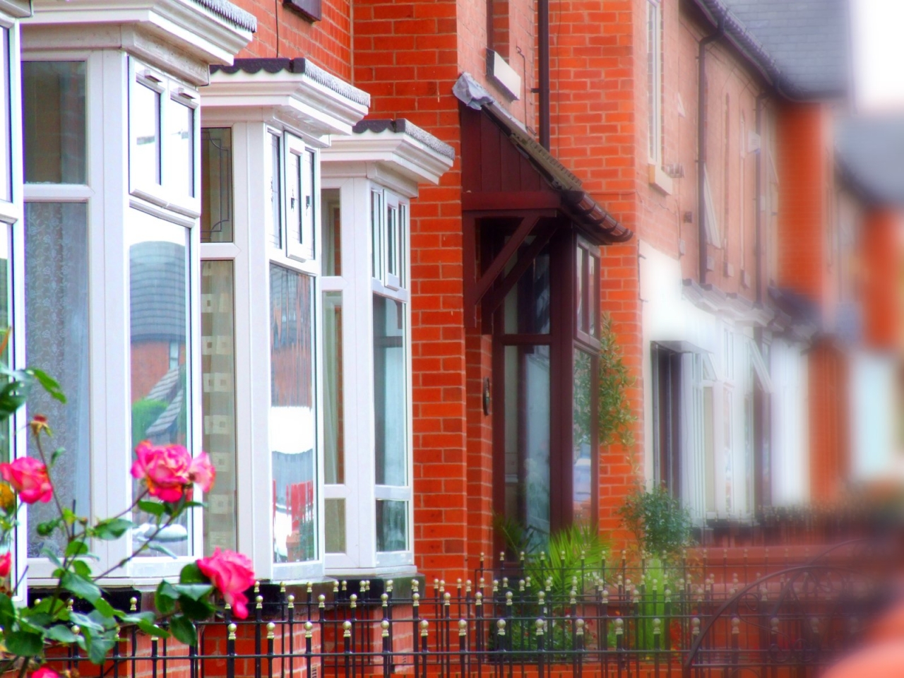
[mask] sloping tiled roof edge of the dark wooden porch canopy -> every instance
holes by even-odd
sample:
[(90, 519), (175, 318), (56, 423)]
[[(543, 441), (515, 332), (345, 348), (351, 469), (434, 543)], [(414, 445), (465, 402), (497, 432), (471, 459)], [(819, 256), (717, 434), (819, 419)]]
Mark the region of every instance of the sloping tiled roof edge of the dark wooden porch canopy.
[(456, 98), (468, 108), (483, 110), (500, 127), (509, 141), (527, 156), (546, 181), (560, 193), (562, 202), (580, 222), (603, 231), (609, 242), (631, 240), (634, 232), (620, 224), (580, 186), (580, 180), (543, 148), (508, 111), (469, 73), (462, 73), (452, 88)]

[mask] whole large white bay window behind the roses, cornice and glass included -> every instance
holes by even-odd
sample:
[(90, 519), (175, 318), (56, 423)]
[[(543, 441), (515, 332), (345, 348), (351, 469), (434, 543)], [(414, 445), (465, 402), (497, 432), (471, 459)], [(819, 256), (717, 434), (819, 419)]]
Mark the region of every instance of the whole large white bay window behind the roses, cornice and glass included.
[[(139, 491), (129, 475), (137, 442), (202, 449), (197, 87), (254, 25), (239, 10), (123, 5), (120, 44), (93, 31), (103, 11), (33, 3), (22, 27), (24, 118), (13, 118), (24, 137), (24, 224), (9, 248), (24, 263), (12, 281), (15, 363), (50, 372), (69, 400), (35, 390), (19, 423), (48, 416), (54, 446), (66, 449), (54, 484), (63, 504), (94, 519), (124, 511)], [(148, 13), (166, 28), (152, 31)], [(79, 31), (60, 30), (73, 23)], [(36, 454), (25, 435), (15, 445)], [(52, 581), (46, 554), (62, 547), (37, 530), (48, 506), (29, 507), (19, 547), (36, 586)], [(153, 583), (202, 555), (206, 520), (193, 512), (116, 569), (153, 532), (147, 516), (132, 519), (125, 539), (92, 545), (108, 584)]]

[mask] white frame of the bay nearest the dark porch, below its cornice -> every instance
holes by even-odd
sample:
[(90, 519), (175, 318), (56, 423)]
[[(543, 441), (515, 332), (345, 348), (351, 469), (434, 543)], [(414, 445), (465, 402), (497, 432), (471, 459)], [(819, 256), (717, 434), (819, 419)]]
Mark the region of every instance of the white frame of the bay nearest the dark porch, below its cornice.
[[(363, 176), (329, 176), (321, 186), (339, 190), (342, 275), (322, 278), (322, 293), (343, 294), (343, 393), (344, 393), (344, 483), (324, 485), (326, 499), (345, 502), (345, 551), (325, 553), (327, 574), (379, 574), (414, 567), (414, 502), (411, 405), (411, 295), (403, 287), (410, 279), (410, 198)], [(373, 219), (372, 204), (380, 209)], [(388, 270), (387, 213), (397, 214), (396, 274)], [(374, 270), (376, 266), (376, 270)], [(405, 305), (406, 366), (406, 485), (376, 485), (375, 411), (373, 376), (373, 296)], [(376, 502), (404, 501), (406, 551), (377, 551)]]

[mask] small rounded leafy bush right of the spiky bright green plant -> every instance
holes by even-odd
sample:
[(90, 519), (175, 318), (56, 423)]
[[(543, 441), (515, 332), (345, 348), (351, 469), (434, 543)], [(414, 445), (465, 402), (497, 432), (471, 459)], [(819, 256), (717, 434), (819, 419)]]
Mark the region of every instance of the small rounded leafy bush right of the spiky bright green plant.
[(691, 513), (662, 486), (652, 490), (638, 487), (618, 513), (640, 550), (655, 559), (674, 560), (692, 541)]

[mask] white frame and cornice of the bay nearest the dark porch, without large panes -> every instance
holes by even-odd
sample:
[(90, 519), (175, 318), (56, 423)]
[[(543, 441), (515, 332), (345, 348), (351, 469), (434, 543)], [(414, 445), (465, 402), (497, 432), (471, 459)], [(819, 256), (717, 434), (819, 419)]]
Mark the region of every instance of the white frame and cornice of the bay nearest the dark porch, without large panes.
[[(419, 130), (418, 130), (419, 131)], [(323, 187), (339, 192), (342, 215), (341, 275), (322, 278), (325, 292), (343, 295), (344, 482), (325, 485), (325, 497), (345, 507), (343, 552), (325, 555), (327, 574), (368, 576), (414, 571), (411, 350), (410, 350), (410, 201), (418, 184), (436, 184), (451, 165), (450, 157), (409, 134), (386, 129), (334, 137), (322, 152)], [(397, 302), (403, 311), (404, 473), (381, 470), (375, 391), (374, 316), (376, 297)], [(382, 302), (381, 302), (382, 304)], [(398, 395), (398, 392), (397, 392)], [(401, 405), (401, 403), (399, 403)], [(402, 480), (402, 476), (404, 479)], [(401, 550), (381, 550), (376, 506), (402, 502), (407, 520)], [(389, 504), (384, 504), (389, 505)], [(385, 516), (385, 511), (384, 511)], [(383, 541), (385, 545), (387, 542)], [(400, 546), (400, 542), (396, 542)]]

